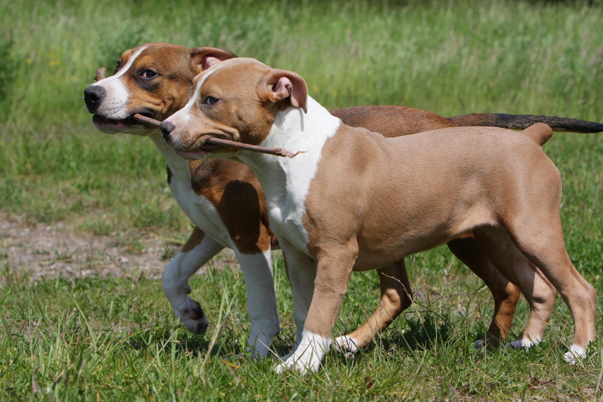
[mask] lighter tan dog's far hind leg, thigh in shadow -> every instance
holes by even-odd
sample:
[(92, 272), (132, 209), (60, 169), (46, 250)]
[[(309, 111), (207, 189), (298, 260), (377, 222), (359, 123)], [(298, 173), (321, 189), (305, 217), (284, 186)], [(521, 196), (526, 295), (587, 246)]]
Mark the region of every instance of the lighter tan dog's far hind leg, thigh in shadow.
[(551, 318), (557, 291), (504, 230), (481, 228), (474, 230), (474, 233), (488, 259), (507, 280), (519, 286), (530, 307), (528, 322), (510, 345), (523, 348), (540, 343)]

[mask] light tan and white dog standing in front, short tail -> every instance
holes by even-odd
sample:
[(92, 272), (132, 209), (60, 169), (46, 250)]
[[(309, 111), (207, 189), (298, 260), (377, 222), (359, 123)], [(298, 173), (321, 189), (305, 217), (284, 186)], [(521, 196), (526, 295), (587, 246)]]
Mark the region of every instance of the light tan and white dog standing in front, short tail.
[[(595, 339), (595, 289), (564, 246), (561, 178), (540, 148), (550, 127), (385, 138), (343, 124), (308, 96), (298, 74), (250, 58), (207, 58), (194, 88), (160, 128), (181, 157), (242, 162), (262, 184), (288, 265), (295, 322), (303, 323), (297, 348), (277, 371), (318, 369), (352, 271), (387, 266), (467, 231), (508, 277), (532, 285), (545, 275), (575, 324), (564, 358), (586, 356)], [(209, 137), (305, 153), (286, 159), (209, 149)]]

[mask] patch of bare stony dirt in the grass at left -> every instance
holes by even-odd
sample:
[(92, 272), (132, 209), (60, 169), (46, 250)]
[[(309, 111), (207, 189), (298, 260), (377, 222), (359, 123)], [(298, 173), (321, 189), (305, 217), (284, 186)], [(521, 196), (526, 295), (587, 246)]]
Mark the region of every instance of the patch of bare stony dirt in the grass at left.
[[(22, 217), (0, 213), (0, 259), (9, 269), (30, 272), (31, 278), (87, 277), (90, 275), (136, 276), (144, 269), (148, 278), (160, 278), (165, 265), (181, 245), (166, 242), (155, 233), (144, 234), (141, 251), (133, 252), (115, 236), (78, 233), (71, 225), (31, 224)], [(214, 268), (236, 265), (230, 249), (225, 249), (210, 263)], [(204, 273), (203, 266), (198, 273)]]

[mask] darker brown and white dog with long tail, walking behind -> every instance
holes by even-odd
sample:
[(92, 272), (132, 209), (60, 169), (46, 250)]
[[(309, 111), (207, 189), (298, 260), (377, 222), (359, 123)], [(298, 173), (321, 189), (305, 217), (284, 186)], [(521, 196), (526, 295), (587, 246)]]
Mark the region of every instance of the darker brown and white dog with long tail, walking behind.
[[(105, 133), (148, 136), (168, 162), (168, 183), (175, 199), (197, 225), (182, 251), (166, 266), (163, 289), (175, 314), (185, 326), (202, 333), (207, 320), (197, 301), (189, 297), (188, 280), (200, 266), (224, 247), (232, 247), (245, 277), (253, 353), (265, 356), (267, 344), (279, 331), (274, 297), (270, 250), (277, 247), (268, 225), (264, 193), (253, 173), (240, 163), (224, 160), (185, 162), (162, 140), (159, 130), (133, 121), (141, 113), (163, 120), (186, 105), (192, 80), (203, 71), (207, 58), (226, 60), (232, 52), (215, 48), (185, 48), (169, 43), (147, 43), (125, 51), (115, 74), (86, 88), (84, 99), (93, 122)], [(494, 125), (525, 128), (546, 122), (557, 131), (598, 132), (603, 125), (548, 116), (478, 114), (443, 118), (428, 111), (399, 106), (362, 106), (333, 110), (332, 115), (355, 127), (365, 127), (386, 137), (402, 136), (444, 127)], [(241, 200), (245, 200), (242, 203)], [(497, 271), (471, 236), (447, 243), (450, 250), (485, 281), (494, 298), (494, 314), (487, 330), (488, 344), (505, 339), (513, 320), (520, 289), (513, 283), (528, 284), (526, 278), (511, 278)], [(379, 330), (411, 303), (408, 276), (403, 260), (379, 270), (384, 311), (374, 315), (359, 330), (338, 339), (346, 350), (355, 351), (370, 343)], [(516, 347), (540, 341), (551, 314), (555, 291), (540, 275), (534, 284), (522, 285), (531, 307), (528, 324)], [(552, 300), (552, 301), (551, 301)], [(298, 322), (298, 327), (303, 327)], [(257, 341), (259, 339), (259, 341)], [(476, 345), (484, 345), (484, 340)]]

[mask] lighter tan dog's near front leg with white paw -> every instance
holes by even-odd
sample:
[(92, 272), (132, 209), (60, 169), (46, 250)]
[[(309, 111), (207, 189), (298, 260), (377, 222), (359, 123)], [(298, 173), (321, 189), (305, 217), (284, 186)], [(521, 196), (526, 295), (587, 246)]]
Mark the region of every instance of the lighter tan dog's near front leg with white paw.
[[(323, 356), (331, 347), (331, 331), (346, 294), (356, 256), (356, 244), (337, 251), (330, 248), (328, 254), (318, 254), (314, 294), (301, 333), (301, 342), (291, 356), (277, 366), (277, 372), (288, 368), (302, 373), (318, 370)], [(291, 277), (297, 267), (289, 265), (288, 269)]]

